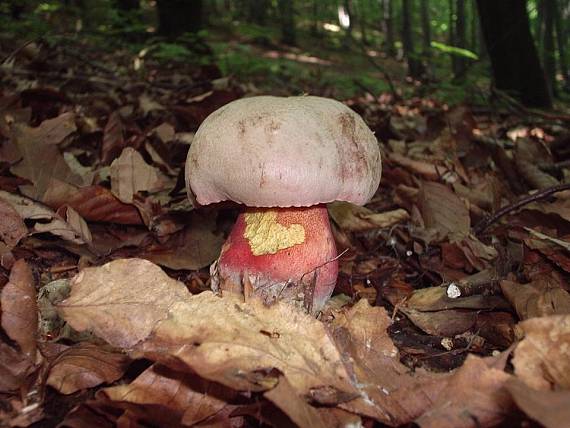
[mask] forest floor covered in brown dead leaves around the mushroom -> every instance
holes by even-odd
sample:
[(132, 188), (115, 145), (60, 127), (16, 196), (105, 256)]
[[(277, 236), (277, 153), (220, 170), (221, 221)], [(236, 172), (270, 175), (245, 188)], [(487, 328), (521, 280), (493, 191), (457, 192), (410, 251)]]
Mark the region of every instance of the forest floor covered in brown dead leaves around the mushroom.
[[(451, 105), (317, 50), (248, 45), (309, 63), (250, 79), (218, 43), (225, 65), (0, 43), (0, 426), (568, 426), (570, 116)], [(365, 62), (363, 95), (326, 77)], [(383, 156), (366, 207), (328, 206), (318, 319), (209, 291), (238, 209), (193, 207), (183, 174), (217, 108), (303, 92), (361, 114)]]

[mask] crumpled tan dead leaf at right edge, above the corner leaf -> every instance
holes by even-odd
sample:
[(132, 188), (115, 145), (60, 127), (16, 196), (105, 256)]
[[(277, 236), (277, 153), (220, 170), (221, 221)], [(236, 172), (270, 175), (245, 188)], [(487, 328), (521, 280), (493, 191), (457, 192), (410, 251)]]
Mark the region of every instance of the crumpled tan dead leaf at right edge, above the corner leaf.
[(515, 349), (515, 374), (538, 390), (570, 389), (570, 315), (520, 323), (525, 338)]

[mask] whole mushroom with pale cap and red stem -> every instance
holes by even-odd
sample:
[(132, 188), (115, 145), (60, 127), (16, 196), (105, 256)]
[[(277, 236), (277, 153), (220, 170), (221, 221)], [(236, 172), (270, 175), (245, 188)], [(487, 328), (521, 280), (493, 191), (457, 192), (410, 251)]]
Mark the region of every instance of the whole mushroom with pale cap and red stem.
[(213, 112), (188, 152), (188, 194), (246, 208), (212, 265), (212, 289), (317, 313), (338, 275), (325, 204), (365, 204), (380, 175), (374, 134), (338, 101), (258, 96)]

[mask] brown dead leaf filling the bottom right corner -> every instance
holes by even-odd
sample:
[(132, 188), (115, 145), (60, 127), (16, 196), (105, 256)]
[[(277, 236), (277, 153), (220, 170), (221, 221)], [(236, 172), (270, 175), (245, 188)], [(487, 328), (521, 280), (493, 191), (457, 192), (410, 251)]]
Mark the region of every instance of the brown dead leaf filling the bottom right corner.
[(570, 421), (570, 391), (537, 391), (512, 379), (507, 388), (516, 405), (546, 428), (561, 428)]

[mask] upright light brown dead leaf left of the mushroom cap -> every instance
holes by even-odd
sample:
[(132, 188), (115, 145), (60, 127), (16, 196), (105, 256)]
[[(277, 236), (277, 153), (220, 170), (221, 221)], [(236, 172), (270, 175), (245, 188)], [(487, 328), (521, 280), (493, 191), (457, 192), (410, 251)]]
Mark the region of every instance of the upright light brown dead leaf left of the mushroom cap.
[(113, 161), (110, 174), (111, 190), (124, 203), (133, 202), (137, 192), (156, 192), (168, 184), (167, 178), (132, 147), (125, 148)]

